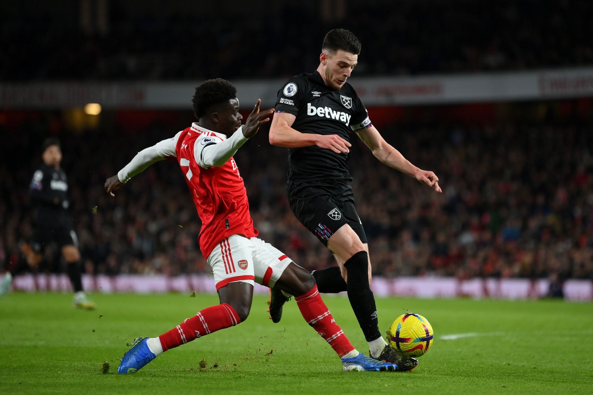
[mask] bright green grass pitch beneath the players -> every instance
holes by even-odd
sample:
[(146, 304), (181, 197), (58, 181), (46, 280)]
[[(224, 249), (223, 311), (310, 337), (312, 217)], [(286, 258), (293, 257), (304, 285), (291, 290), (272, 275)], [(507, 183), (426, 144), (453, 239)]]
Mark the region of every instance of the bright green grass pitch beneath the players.
[[(160, 335), (218, 299), (93, 298), (96, 311), (74, 310), (68, 294), (12, 293), (0, 299), (1, 393), (593, 393), (591, 303), (381, 298), (382, 330), (407, 310), (423, 314), (435, 330), (432, 348), (413, 372), (342, 372), (294, 301), (282, 322), (273, 324), (266, 298), (256, 296), (245, 323), (165, 352), (136, 374), (117, 375), (126, 342)], [(347, 298), (324, 299), (350, 341), (368, 352)], [(441, 338), (468, 332), (479, 336)], [(199, 368), (202, 359), (205, 369)], [(104, 361), (109, 374), (101, 372)]]

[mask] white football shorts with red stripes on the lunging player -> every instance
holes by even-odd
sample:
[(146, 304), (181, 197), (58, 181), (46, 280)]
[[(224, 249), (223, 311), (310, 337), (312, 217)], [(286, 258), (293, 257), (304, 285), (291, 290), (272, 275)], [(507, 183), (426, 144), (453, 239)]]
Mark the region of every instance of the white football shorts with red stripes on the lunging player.
[(235, 281), (273, 288), (292, 259), (262, 239), (232, 235), (218, 243), (206, 262), (212, 267), (218, 291)]

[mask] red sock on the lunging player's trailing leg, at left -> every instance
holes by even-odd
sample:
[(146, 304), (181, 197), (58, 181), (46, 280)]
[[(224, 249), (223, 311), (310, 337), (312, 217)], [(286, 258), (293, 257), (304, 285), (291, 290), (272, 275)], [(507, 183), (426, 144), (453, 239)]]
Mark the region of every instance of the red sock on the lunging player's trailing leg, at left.
[(237, 311), (230, 304), (222, 303), (200, 311), (158, 338), (161, 341), (162, 351), (167, 351), (240, 322)]

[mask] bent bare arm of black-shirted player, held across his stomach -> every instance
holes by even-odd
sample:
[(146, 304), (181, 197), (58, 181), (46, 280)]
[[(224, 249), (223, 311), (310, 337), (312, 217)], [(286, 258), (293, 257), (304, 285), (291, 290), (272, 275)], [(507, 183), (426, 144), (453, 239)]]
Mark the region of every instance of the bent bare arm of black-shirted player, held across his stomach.
[(285, 148), (318, 146), (331, 149), (335, 153), (350, 152), (352, 145), (337, 134), (324, 136), (323, 134), (301, 133), (292, 129), (295, 115), (290, 113), (276, 113), (270, 126), (270, 144)]

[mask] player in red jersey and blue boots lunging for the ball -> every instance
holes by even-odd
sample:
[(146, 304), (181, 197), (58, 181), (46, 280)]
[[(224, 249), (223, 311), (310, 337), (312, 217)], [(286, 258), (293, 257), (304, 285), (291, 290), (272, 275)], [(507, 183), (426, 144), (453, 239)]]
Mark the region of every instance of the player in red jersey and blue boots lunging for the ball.
[(343, 370), (398, 369), (356, 351), (321, 300), (313, 275), (257, 238), (243, 178), (232, 155), (272, 117), (273, 108), (260, 112), (259, 104), (260, 100), (242, 126), (237, 89), (224, 79), (208, 80), (193, 96), (197, 123), (142, 150), (107, 179), (105, 190), (113, 195), (152, 163), (177, 159), (202, 220), (200, 250), (212, 266), (220, 300), (158, 338), (137, 338), (123, 356), (119, 373), (136, 372), (163, 351), (246, 320), (255, 281), (296, 296), (302, 316), (336, 351)]

